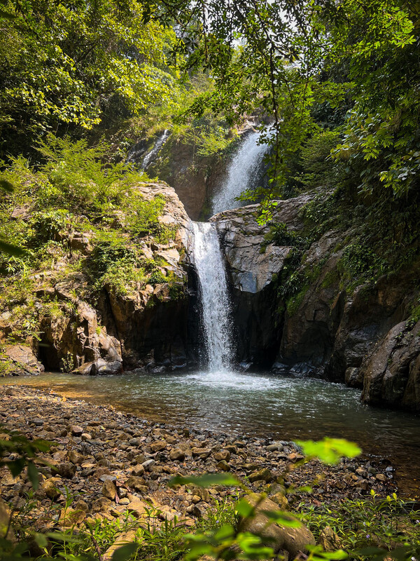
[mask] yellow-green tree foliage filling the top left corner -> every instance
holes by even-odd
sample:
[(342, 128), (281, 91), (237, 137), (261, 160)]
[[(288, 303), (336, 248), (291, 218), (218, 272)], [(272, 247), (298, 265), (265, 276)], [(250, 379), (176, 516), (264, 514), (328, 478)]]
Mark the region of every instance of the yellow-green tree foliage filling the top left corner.
[(138, 113), (170, 96), (172, 29), (144, 23), (137, 0), (3, 0), (1, 151), (48, 131), (86, 130), (106, 111)]

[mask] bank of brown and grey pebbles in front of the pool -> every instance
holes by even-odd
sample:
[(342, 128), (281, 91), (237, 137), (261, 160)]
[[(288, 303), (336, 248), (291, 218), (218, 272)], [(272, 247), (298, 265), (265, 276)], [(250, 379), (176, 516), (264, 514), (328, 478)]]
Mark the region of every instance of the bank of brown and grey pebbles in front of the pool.
[[(0, 421), (29, 439), (52, 442), (40, 465), (34, 495), (34, 527), (81, 525), (89, 518), (135, 518), (154, 508), (160, 520), (193, 525), (235, 489), (170, 488), (174, 475), (229, 471), (255, 491), (265, 491), (280, 508), (300, 501), (319, 504), (355, 498), (370, 489), (386, 496), (396, 490), (393, 468), (381, 461), (343, 460), (337, 466), (309, 461), (292, 442), (264, 438), (230, 438), (209, 431), (151, 423), (81, 400), (62, 398), (34, 388), (0, 387)], [(11, 457), (13, 459), (13, 456)], [(26, 475), (13, 478), (3, 468), (1, 497), (16, 508), (31, 489)], [(313, 492), (289, 490), (312, 484)], [(73, 496), (66, 508), (66, 496)]]

